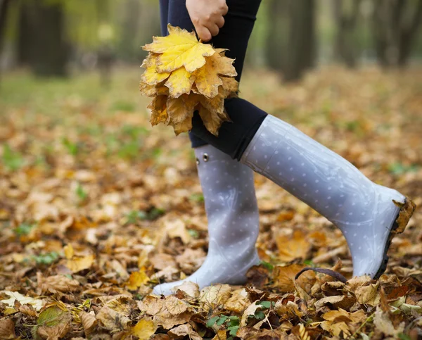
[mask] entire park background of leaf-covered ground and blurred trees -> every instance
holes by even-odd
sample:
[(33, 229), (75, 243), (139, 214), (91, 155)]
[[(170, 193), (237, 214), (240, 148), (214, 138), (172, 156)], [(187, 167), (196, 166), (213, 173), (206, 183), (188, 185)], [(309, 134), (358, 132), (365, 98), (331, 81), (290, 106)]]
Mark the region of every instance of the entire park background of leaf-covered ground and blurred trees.
[[(188, 137), (138, 92), (159, 26), (153, 0), (0, 0), (0, 339), (420, 339), (420, 209), (351, 279), (340, 232), (260, 175), (248, 287), (148, 296), (207, 252)], [(422, 0), (262, 0), (241, 96), (420, 206), (421, 32)]]

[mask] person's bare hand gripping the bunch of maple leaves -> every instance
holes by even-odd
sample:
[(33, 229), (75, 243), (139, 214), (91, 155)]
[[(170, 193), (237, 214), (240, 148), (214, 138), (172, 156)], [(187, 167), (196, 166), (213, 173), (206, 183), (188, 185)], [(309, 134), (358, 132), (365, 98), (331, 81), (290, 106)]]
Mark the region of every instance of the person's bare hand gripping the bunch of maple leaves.
[(186, 0), (186, 8), (198, 37), (207, 42), (218, 34), (229, 11), (226, 0)]

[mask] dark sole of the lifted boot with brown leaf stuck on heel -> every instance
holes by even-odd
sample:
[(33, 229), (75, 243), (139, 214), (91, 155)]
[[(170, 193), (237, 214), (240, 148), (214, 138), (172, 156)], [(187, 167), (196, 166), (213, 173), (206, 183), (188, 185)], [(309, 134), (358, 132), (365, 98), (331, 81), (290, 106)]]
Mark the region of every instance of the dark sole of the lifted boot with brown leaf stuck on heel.
[(416, 208), (416, 204), (407, 198), (404, 199), (404, 203), (400, 203), (395, 200), (392, 201), (393, 203), (395, 203), (396, 206), (400, 208), (400, 210), (399, 213), (397, 213), (396, 215), (395, 222), (392, 225), (390, 234), (388, 235), (387, 243), (385, 244), (383, 263), (381, 263), (381, 266), (378, 269), (378, 272), (376, 272), (376, 275), (373, 277), (373, 279), (379, 279), (387, 269), (389, 259), (387, 253), (388, 249), (390, 248), (392, 238), (395, 237), (396, 234), (401, 234), (402, 232), (404, 232), (404, 229), (406, 228), (407, 223), (409, 222), (411, 215), (413, 215), (414, 210)]

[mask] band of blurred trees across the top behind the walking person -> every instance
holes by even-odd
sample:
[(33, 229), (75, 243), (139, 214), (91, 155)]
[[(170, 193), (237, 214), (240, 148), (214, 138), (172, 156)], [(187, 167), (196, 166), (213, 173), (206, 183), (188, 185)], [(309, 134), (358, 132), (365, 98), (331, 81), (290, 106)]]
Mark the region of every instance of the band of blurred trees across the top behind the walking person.
[[(247, 63), (298, 80), (316, 65), (404, 67), (422, 55), (422, 0), (262, 0)], [(64, 77), (139, 65), (158, 0), (0, 0), (0, 69)]]

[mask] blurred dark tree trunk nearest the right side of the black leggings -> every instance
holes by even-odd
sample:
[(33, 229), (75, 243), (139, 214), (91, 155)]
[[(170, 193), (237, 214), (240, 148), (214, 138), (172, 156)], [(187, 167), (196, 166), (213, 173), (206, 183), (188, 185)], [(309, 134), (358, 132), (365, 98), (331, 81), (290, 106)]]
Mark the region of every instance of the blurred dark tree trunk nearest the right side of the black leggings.
[(290, 31), (284, 80), (299, 80), (314, 66), (316, 56), (315, 1), (290, 0)]

